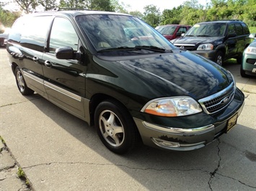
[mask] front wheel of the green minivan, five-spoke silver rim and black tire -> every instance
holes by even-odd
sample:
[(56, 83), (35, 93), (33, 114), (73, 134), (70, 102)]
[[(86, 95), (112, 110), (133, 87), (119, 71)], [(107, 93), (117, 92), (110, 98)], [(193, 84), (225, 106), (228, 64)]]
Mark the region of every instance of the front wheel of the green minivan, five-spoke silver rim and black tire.
[(103, 144), (116, 154), (136, 146), (138, 130), (130, 113), (118, 101), (103, 101), (94, 113), (94, 124)]

